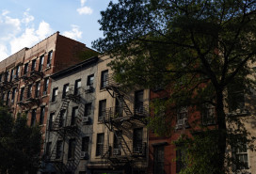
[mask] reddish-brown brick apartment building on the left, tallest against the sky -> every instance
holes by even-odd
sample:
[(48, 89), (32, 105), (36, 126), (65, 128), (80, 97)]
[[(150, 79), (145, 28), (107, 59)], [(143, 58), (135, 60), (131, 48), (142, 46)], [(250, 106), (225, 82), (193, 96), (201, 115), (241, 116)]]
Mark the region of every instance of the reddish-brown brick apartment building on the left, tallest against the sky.
[(45, 134), (51, 74), (81, 62), (81, 52), (94, 52), (84, 43), (56, 32), (31, 48), (24, 48), (0, 62), (1, 99), (13, 117), (27, 114)]

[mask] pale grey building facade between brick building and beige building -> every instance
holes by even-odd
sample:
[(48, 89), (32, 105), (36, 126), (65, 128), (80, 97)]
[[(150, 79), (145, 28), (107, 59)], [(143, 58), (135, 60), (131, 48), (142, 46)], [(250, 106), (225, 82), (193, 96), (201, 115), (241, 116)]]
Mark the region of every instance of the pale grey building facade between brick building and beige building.
[(42, 173), (86, 173), (90, 160), (98, 57), (51, 76)]

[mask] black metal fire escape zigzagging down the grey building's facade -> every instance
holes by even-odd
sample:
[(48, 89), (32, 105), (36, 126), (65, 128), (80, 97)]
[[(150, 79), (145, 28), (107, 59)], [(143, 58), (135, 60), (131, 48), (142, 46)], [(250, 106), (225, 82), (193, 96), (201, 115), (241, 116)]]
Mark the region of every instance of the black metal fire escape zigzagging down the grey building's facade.
[[(65, 110), (66, 112), (68, 111), (68, 107), (69, 107), (69, 103), (71, 103), (71, 101), (78, 103), (78, 101), (76, 100), (77, 97), (72, 97), (72, 95), (67, 95), (65, 99), (63, 99), (62, 104), (59, 108), (59, 112), (56, 116), (55, 121), (53, 122), (51, 128), (49, 128), (50, 132), (56, 133), (56, 137), (54, 138), (54, 142), (52, 142), (52, 147), (54, 147), (53, 150), (51, 150), (50, 155), (47, 157), (47, 162), (48, 163), (52, 163), (54, 164), (54, 166), (56, 167), (56, 170), (60, 173), (65, 173), (65, 172), (71, 172), (74, 171), (79, 162), (80, 162), (80, 158), (81, 158), (81, 145), (82, 145), (82, 117), (84, 115), (84, 104), (83, 103), (79, 103), (78, 106), (78, 114), (77, 116), (75, 116), (75, 123), (72, 126), (65, 126), (67, 123), (67, 118), (66, 117), (64, 120), (64, 118), (61, 118), (61, 112), (63, 110)], [(67, 113), (66, 113), (67, 114)], [(60, 124), (62, 124), (62, 126), (60, 127)], [(48, 134), (50, 135), (50, 134)], [(68, 137), (68, 138), (67, 138)], [(60, 158), (56, 158), (56, 145), (57, 145), (57, 141), (61, 140), (63, 141), (62, 146), (63, 146), (63, 150), (62, 153), (65, 152), (64, 150), (64, 144), (65, 142), (68, 143), (69, 142), (69, 138), (75, 138), (75, 150), (74, 150), (74, 156), (72, 159), (68, 159), (67, 163), (64, 162), (64, 154), (61, 155)]]

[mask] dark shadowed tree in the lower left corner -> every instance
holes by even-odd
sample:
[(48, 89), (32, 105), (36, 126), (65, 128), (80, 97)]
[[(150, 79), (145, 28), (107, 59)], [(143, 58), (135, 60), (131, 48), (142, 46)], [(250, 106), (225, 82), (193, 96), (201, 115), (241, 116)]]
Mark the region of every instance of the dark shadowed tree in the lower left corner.
[(36, 173), (40, 166), (40, 127), (29, 127), (26, 116), (13, 119), (0, 107), (0, 173)]

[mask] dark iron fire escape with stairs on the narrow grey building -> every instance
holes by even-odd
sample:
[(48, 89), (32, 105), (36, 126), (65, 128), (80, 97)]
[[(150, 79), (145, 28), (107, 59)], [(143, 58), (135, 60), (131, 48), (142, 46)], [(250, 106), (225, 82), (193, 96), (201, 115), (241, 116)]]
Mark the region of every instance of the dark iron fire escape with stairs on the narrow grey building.
[[(82, 88), (80, 88), (82, 89)], [(84, 115), (84, 103), (81, 103), (81, 92), (75, 92), (72, 87), (62, 99), (56, 118), (49, 119), (47, 129), (46, 150), (44, 151), (44, 163), (51, 164), (56, 172), (73, 172), (77, 168), (81, 159), (81, 129), (82, 118)], [(69, 116), (69, 104), (78, 103), (78, 111), (75, 116)], [(50, 140), (51, 139), (51, 140)], [(74, 140), (74, 145), (71, 145)], [(51, 141), (51, 142), (50, 142)], [(51, 143), (51, 146), (49, 145)], [(65, 158), (65, 144), (69, 144), (68, 159)], [(73, 146), (72, 155), (70, 155), (70, 146)]]

